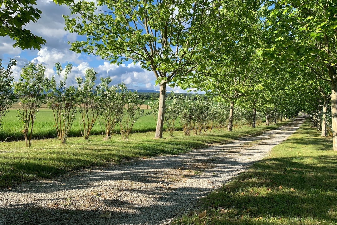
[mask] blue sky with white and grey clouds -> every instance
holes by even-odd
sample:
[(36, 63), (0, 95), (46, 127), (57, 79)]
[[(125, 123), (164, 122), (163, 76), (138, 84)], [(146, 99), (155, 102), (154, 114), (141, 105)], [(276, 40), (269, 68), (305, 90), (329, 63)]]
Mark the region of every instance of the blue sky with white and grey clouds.
[[(124, 82), (130, 89), (159, 90), (159, 86), (155, 85), (153, 72), (141, 68), (140, 63), (110, 64), (110, 62), (104, 61), (98, 56), (85, 53), (76, 54), (70, 51), (68, 41), (75, 41), (78, 35), (64, 30), (62, 15), (70, 15), (68, 6), (57, 5), (52, 0), (37, 0), (35, 8), (42, 11), (41, 18), (37, 23), (30, 23), (25, 28), (31, 30), (37, 36), (42, 36), (47, 41), (47, 44), (42, 46), (40, 50), (14, 49), (13, 40), (9, 37), (0, 37), (0, 58), (3, 61), (3, 66), (6, 67), (11, 58), (17, 60), (17, 66), (12, 68), (15, 80), (19, 79), (21, 68), (30, 62), (41, 63), (45, 66), (47, 77), (55, 76), (55, 63), (59, 62), (62, 67), (65, 67), (68, 63), (73, 65), (68, 76), (68, 85), (76, 86), (75, 77), (84, 76), (85, 69), (92, 67), (97, 72), (98, 81), (100, 77), (111, 77), (112, 85)], [(186, 90), (179, 87), (167, 87), (166, 90), (186, 93)]]

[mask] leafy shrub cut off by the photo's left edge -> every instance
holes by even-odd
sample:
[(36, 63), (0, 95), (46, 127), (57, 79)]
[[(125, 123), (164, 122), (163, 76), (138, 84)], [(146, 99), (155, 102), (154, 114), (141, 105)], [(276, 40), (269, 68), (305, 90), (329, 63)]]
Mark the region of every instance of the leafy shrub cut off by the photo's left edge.
[(11, 67), (16, 65), (16, 61), (11, 59), (5, 69), (2, 66), (2, 60), (0, 59), (0, 129), (2, 125), (2, 118), (8, 112), (9, 107), (15, 102), (15, 96), (13, 94), (12, 82), (14, 78), (11, 76)]

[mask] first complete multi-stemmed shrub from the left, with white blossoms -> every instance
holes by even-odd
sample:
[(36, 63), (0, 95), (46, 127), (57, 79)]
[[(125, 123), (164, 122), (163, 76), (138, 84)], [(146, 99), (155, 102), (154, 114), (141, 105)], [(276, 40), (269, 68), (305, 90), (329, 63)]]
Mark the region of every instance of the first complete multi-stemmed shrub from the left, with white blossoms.
[(45, 68), (30, 63), (21, 72), (21, 78), (14, 83), (14, 94), (19, 97), (21, 109), (18, 110), (18, 119), (22, 122), (26, 147), (31, 146), (33, 125), (36, 113), (45, 102), (45, 86), (48, 79), (44, 78)]

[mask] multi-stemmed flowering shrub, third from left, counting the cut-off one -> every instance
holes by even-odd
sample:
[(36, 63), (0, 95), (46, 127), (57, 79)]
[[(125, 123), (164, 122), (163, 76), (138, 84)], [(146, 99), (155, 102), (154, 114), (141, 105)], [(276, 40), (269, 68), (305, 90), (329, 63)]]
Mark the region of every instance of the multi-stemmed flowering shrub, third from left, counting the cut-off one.
[[(66, 65), (64, 73), (62, 65), (56, 63), (56, 73), (59, 78), (59, 84), (53, 77), (49, 81), (47, 93), (47, 106), (53, 110), (55, 129), (58, 139), (61, 143), (65, 143), (72, 123), (76, 119), (78, 113), (78, 93), (73, 86), (66, 86), (67, 77), (71, 71), (71, 64)], [(61, 79), (63, 76), (63, 79)]]

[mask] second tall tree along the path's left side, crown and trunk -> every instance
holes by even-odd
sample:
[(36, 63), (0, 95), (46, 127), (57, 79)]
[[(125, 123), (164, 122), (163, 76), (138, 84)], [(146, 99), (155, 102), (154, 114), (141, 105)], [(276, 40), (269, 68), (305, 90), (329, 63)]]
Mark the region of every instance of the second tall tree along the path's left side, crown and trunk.
[(228, 131), (233, 127), (235, 102), (253, 87), (261, 69), (256, 54), (262, 25), (256, 11), (258, 7), (250, 2), (223, 2), (219, 13), (211, 20), (216, 23), (216, 32), (200, 50), (201, 66), (183, 85), (228, 101)]

